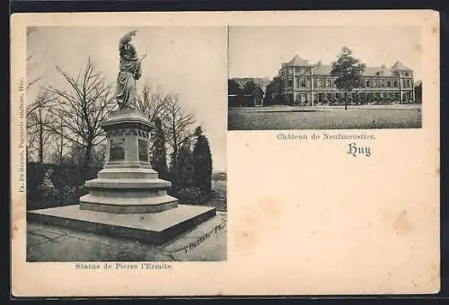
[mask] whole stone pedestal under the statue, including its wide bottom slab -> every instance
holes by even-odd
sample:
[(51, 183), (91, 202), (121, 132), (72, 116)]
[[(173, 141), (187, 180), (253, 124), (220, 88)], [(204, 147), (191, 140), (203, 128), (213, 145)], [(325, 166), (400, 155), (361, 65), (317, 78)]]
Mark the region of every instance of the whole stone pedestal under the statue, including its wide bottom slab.
[(163, 243), (216, 215), (215, 207), (178, 205), (172, 183), (159, 179), (148, 158), (152, 124), (136, 109), (110, 113), (102, 125), (108, 157), (97, 179), (85, 182), (80, 205), (29, 211), (29, 222)]

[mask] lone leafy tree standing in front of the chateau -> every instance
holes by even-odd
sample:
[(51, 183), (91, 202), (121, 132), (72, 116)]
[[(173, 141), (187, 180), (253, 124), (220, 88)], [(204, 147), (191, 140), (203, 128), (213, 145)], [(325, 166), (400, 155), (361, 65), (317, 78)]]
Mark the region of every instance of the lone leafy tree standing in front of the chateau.
[(365, 65), (360, 60), (352, 57), (352, 51), (344, 47), (337, 61), (332, 64), (330, 75), (336, 77), (335, 86), (346, 93), (345, 109), (348, 109), (348, 93), (359, 88), (363, 82)]

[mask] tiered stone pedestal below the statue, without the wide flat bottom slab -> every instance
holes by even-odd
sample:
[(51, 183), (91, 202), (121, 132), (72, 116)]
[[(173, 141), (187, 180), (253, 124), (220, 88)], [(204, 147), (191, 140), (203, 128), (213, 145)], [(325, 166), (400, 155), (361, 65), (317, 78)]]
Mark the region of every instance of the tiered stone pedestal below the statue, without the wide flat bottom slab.
[(89, 194), (80, 198), (80, 208), (108, 213), (156, 213), (178, 206), (167, 195), (172, 183), (158, 178), (148, 158), (152, 124), (136, 109), (111, 112), (103, 123), (108, 157), (97, 179), (86, 181)]

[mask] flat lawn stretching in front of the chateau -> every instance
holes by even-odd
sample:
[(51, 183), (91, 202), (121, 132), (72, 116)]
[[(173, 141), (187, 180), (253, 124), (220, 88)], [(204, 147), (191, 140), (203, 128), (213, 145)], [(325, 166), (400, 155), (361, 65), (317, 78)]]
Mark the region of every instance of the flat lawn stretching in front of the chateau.
[(420, 127), (420, 105), (228, 109), (229, 130)]

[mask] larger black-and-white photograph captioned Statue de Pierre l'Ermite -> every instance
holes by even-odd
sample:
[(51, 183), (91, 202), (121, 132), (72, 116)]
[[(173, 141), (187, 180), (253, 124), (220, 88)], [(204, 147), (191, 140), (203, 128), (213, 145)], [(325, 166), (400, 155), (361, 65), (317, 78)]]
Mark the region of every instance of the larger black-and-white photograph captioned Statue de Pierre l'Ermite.
[(226, 28), (29, 27), (26, 60), (27, 261), (226, 260)]

